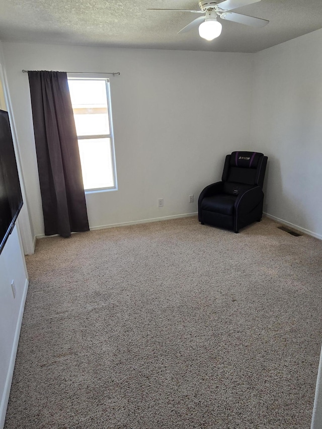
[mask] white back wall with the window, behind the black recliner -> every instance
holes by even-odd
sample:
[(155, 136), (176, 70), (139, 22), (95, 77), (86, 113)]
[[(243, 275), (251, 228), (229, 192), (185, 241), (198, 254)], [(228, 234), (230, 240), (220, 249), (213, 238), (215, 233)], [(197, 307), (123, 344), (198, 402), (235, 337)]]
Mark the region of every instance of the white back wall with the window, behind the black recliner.
[(36, 235), (43, 220), (22, 69), (121, 72), (111, 77), (119, 189), (87, 195), (91, 227), (196, 212), (224, 155), (249, 145), (252, 54), (4, 43), (4, 55)]

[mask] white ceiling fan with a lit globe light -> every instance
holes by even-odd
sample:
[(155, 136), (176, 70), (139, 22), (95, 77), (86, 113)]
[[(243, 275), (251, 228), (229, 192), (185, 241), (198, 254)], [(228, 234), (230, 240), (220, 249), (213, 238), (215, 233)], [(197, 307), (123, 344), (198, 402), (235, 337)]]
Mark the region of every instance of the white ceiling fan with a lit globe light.
[(149, 11), (177, 11), (177, 12), (192, 12), (194, 14), (204, 14), (196, 18), (190, 24), (186, 25), (179, 33), (186, 33), (199, 25), (199, 35), (206, 40), (213, 40), (221, 33), (221, 24), (217, 21), (217, 17), (237, 22), (239, 24), (250, 25), (252, 27), (264, 27), (269, 21), (250, 17), (248, 15), (237, 14), (231, 12), (232, 9), (241, 8), (242, 6), (251, 5), (252, 3), (260, 2), (261, 0), (224, 0), (223, 2), (215, 2), (212, 0), (200, 0), (200, 11), (189, 11), (186, 9), (148, 9)]

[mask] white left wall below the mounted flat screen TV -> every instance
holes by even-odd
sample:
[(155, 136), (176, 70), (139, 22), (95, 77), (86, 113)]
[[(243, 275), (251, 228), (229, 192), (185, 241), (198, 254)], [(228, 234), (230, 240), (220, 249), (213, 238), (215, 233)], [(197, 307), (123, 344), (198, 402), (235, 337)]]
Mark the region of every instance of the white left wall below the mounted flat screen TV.
[[(0, 69), (3, 57), (0, 42)], [(0, 79), (2, 78), (0, 73)], [(2, 79), (1, 79), (2, 80)], [(4, 99), (7, 99), (5, 82)], [(1, 107), (4, 99), (2, 99)], [(6, 101), (5, 101), (6, 102)], [(20, 215), (19, 215), (20, 217)], [(12, 292), (14, 281), (16, 296)], [(3, 427), (28, 288), (27, 270), (19, 226), (16, 225), (0, 254), (0, 427)]]

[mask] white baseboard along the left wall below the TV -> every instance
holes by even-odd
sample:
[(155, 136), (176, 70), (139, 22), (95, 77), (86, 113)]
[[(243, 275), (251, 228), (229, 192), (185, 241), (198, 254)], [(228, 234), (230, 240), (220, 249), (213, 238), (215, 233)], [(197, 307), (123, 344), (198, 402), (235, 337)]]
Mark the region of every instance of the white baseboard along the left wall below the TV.
[(18, 320), (17, 320), (17, 326), (16, 326), (16, 332), (15, 332), (15, 338), (12, 346), (11, 351), (11, 357), (10, 357), (10, 363), (7, 373), (7, 379), (5, 384), (4, 393), (2, 396), (2, 400), (0, 403), (0, 428), (3, 429), (5, 424), (5, 418), (6, 418), (6, 412), (7, 412), (7, 406), (8, 406), (8, 400), (9, 400), (9, 394), (10, 394), (10, 388), (12, 383), (12, 377), (14, 374), (15, 369), (15, 362), (16, 362), (16, 355), (17, 355), (17, 349), (18, 349), (18, 342), (19, 342), (19, 336), (20, 336), (20, 329), (21, 329), (21, 323), (22, 323), (22, 316), (24, 314), (24, 308), (25, 308), (25, 302), (27, 297), (27, 291), (28, 291), (28, 285), (29, 281), (26, 279), (25, 286), (24, 286), (24, 293), (22, 296), (19, 314), (18, 314)]

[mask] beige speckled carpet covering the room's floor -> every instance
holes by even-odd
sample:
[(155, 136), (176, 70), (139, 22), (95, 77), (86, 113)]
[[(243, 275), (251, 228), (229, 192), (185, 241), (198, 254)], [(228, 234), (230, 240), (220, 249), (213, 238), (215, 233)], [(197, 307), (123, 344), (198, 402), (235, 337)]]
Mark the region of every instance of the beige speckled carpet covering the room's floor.
[(322, 242), (277, 226), (38, 240), (5, 428), (309, 428)]

